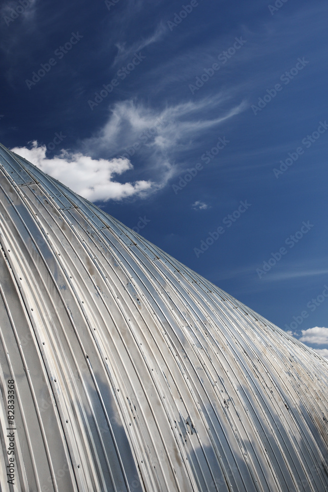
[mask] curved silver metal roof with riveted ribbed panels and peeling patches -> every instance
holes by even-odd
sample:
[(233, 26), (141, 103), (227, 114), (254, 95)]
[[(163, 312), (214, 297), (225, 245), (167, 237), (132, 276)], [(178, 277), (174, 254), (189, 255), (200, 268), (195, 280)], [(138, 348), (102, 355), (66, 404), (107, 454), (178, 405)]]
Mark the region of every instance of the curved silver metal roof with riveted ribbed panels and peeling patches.
[(0, 244), (1, 491), (328, 490), (326, 360), (3, 146)]

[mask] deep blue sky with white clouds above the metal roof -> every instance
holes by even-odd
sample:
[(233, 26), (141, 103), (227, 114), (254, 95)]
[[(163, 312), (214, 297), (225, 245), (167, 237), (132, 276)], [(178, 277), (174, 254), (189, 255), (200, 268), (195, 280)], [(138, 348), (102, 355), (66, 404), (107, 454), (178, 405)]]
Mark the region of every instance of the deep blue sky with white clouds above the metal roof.
[(326, 2), (7, 1), (1, 27), (1, 142), (328, 356)]

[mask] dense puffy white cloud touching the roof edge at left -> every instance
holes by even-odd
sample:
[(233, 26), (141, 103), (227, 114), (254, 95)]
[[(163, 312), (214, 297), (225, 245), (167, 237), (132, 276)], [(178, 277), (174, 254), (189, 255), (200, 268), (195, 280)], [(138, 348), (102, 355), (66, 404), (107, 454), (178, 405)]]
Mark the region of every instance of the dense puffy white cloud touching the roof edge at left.
[(49, 159), (46, 157), (46, 146), (38, 145), (36, 141), (32, 142), (30, 149), (15, 147), (11, 151), (90, 201), (145, 197), (158, 188), (158, 185), (151, 181), (114, 181), (114, 175), (133, 169), (131, 162), (126, 158), (92, 159), (88, 155), (61, 150), (60, 155)]

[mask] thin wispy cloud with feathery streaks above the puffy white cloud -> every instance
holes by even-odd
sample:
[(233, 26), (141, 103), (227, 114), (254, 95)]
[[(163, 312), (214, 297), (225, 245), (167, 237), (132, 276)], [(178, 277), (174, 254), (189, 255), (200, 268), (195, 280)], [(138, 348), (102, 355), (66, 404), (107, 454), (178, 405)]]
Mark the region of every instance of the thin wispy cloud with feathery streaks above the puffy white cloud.
[[(130, 149), (130, 156), (134, 159), (135, 145), (138, 148), (136, 155), (142, 155), (144, 166), (156, 174), (156, 181), (164, 185), (179, 172), (182, 165), (179, 163), (180, 155), (196, 147), (195, 139), (202, 132), (219, 126), (246, 109), (242, 102), (220, 111), (219, 106), (223, 103), (226, 103), (223, 94), (197, 102), (167, 105), (162, 110), (146, 107), (134, 100), (119, 101), (110, 109), (107, 123), (93, 137), (86, 139), (83, 146), (90, 155), (110, 153), (129, 157), (126, 153)], [(204, 114), (209, 114), (213, 108), (219, 116), (204, 119)]]

